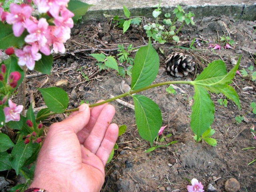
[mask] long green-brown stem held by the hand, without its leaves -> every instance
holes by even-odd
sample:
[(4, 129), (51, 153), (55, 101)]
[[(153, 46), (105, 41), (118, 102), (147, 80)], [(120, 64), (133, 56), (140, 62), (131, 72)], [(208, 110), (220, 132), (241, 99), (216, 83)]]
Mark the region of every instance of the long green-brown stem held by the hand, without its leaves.
[[(122, 98), (122, 97), (125, 97), (125, 96), (132, 96), (132, 94), (134, 94), (134, 93), (142, 92), (144, 90), (148, 90), (148, 89), (151, 89), (151, 88), (154, 88), (154, 87), (163, 86), (163, 85), (169, 85), (169, 84), (192, 84), (192, 81), (166, 81), (166, 82), (162, 82), (162, 83), (152, 84), (152, 85), (146, 86), (144, 88), (140, 88), (140, 89), (137, 89), (137, 90), (132, 90), (132, 91), (123, 93), (121, 95), (118, 95), (116, 97), (110, 98), (108, 100), (104, 100), (102, 102), (91, 104), (90, 107), (96, 107), (96, 106), (99, 106), (99, 105), (102, 105), (104, 103), (108, 103), (108, 102), (114, 101), (116, 99), (119, 99), (119, 98)], [(78, 111), (78, 108), (65, 110), (63, 113), (69, 113), (69, 112), (74, 112), (74, 111)], [(57, 113), (50, 112), (48, 114), (44, 114), (44, 115), (36, 118), (36, 121), (39, 121), (39, 120), (44, 119), (44, 118), (47, 118), (48, 116), (54, 115), (54, 114), (57, 114)]]

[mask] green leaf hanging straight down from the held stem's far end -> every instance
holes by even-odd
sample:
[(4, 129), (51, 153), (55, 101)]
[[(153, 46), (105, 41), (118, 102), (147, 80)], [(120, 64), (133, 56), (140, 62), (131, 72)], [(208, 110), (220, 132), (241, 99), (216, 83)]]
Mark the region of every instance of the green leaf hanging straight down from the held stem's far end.
[(194, 88), (194, 104), (192, 106), (190, 126), (194, 134), (199, 137), (214, 120), (214, 104), (210, 94), (202, 86), (195, 85)]

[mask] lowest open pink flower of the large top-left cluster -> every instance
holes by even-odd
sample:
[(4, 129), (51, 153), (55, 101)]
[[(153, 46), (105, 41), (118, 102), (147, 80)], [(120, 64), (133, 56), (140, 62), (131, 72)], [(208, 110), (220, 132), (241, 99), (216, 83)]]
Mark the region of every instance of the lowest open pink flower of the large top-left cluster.
[(35, 67), (35, 61), (41, 59), (42, 55), (37, 52), (38, 50), (33, 50), (32, 46), (24, 46), (23, 50), (17, 49), (15, 55), (19, 58), (18, 64), (20, 66), (26, 65), (30, 70)]

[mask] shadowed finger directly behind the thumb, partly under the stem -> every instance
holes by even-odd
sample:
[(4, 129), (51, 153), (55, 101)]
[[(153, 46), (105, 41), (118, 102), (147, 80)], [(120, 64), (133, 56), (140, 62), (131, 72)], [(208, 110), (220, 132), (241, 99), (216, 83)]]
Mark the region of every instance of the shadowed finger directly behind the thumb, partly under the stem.
[[(102, 101), (104, 101), (104, 100), (100, 100), (97, 103), (102, 102)], [(80, 132), (78, 132), (78, 134), (77, 134), (78, 140), (81, 144), (83, 144), (84, 141), (86, 140), (86, 138), (90, 135), (90, 132), (92, 131), (92, 128), (94, 127), (94, 125), (100, 115), (100, 112), (106, 105), (107, 105), (107, 103), (91, 108), (90, 121), (88, 122), (87, 126), (84, 129), (82, 129)]]

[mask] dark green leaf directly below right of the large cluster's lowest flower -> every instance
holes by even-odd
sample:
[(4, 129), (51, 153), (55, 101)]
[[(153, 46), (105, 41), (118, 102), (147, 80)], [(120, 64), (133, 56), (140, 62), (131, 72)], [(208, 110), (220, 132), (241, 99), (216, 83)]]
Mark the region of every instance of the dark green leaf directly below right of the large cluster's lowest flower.
[(42, 54), (42, 58), (39, 61), (36, 61), (35, 70), (44, 74), (51, 74), (53, 57), (52, 55)]

